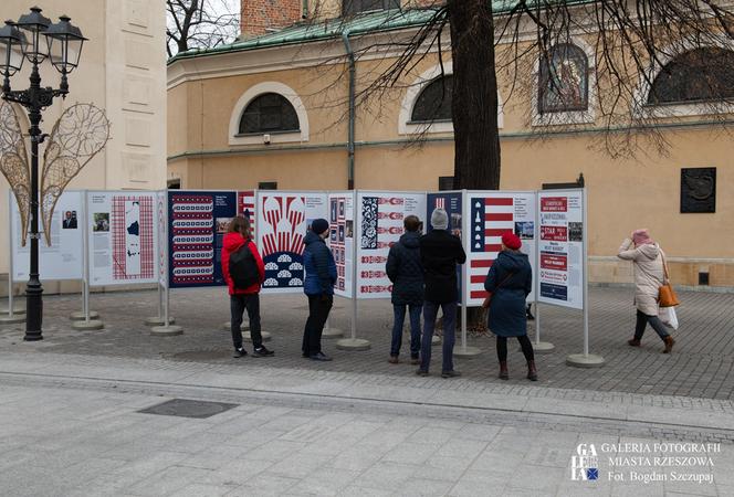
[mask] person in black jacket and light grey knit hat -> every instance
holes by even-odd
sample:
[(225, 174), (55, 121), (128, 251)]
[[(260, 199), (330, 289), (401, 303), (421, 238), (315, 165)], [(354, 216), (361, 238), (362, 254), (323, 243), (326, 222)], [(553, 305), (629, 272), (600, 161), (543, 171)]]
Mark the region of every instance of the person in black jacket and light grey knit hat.
[(466, 261), (466, 253), (459, 236), (449, 233), (449, 215), (443, 209), (431, 213), (433, 230), (420, 239), (420, 261), (423, 265), (426, 292), (423, 295), (423, 336), (420, 348), (420, 368), (417, 374), (428, 376), (431, 363), (431, 339), (439, 307), (443, 313), (443, 364), (441, 377), (453, 378), (461, 373), (453, 369), (453, 343), (459, 300), (457, 264)]

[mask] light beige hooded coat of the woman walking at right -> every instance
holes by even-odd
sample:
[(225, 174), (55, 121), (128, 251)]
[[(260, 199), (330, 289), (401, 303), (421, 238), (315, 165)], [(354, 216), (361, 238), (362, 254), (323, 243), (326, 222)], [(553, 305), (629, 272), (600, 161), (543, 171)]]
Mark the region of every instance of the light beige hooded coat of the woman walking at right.
[(632, 261), (635, 273), (635, 306), (648, 316), (658, 316), (658, 294), (663, 283), (662, 256), (664, 252), (657, 243), (646, 243), (635, 247), (626, 239), (617, 256)]

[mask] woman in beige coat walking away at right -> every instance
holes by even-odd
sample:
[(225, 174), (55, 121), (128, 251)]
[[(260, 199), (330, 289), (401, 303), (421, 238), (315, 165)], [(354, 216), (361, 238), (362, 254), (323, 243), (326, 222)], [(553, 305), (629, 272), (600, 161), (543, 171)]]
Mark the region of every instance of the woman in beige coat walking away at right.
[(664, 253), (651, 237), (647, 229), (635, 230), (630, 237), (625, 239), (617, 256), (632, 261), (635, 273), (635, 306), (637, 307), (637, 326), (635, 337), (627, 341), (631, 347), (639, 347), (644, 328), (652, 326), (665, 343), (663, 353), (670, 353), (675, 340), (668, 334), (665, 325), (658, 317), (658, 295), (663, 285)]

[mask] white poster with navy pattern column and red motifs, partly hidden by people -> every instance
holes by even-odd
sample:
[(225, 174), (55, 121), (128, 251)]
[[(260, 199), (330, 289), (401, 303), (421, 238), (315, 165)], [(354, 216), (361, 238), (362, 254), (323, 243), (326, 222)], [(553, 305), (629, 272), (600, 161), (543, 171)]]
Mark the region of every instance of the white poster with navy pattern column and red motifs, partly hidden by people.
[(388, 253), (403, 233), (406, 216), (417, 215), (424, 222), (426, 193), (360, 191), (356, 209), (357, 297), (390, 298), (392, 284), (385, 271)]

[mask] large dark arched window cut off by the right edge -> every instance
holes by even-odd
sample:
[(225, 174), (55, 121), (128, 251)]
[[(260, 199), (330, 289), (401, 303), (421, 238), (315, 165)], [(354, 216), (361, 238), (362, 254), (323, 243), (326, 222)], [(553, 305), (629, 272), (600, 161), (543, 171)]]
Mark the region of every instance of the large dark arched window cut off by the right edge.
[(716, 102), (734, 98), (734, 52), (694, 49), (670, 61), (656, 76), (648, 104)]

